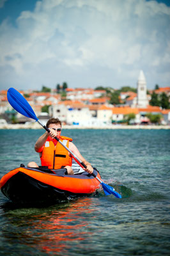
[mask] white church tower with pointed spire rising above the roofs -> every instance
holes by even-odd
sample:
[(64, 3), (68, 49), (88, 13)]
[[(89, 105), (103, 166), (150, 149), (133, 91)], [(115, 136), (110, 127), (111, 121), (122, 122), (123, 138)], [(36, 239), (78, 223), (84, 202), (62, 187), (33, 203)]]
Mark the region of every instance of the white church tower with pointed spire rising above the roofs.
[(137, 108), (147, 108), (148, 104), (146, 79), (141, 70), (137, 80)]

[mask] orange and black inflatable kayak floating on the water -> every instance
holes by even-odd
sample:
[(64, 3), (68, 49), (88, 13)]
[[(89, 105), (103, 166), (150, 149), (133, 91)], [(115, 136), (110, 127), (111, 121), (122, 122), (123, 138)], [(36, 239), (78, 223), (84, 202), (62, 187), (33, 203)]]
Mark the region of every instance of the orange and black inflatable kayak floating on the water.
[[(75, 175), (67, 175), (65, 172), (65, 168), (50, 170), (43, 166), (19, 167), (1, 178), (0, 189), (12, 202), (25, 204), (90, 196), (100, 187), (100, 182), (88, 172)], [(97, 169), (94, 168), (93, 172), (101, 179)]]

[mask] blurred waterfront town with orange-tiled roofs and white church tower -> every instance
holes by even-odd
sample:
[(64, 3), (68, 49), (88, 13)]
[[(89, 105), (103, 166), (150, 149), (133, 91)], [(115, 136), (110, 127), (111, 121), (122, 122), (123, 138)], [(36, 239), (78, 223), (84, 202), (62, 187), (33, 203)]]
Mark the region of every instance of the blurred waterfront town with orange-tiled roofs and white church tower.
[[(73, 127), (113, 127), (113, 125), (169, 125), (170, 87), (147, 90), (143, 70), (137, 78), (136, 88), (68, 88), (66, 83), (55, 89), (43, 86), (41, 92), (20, 91), (43, 124), (53, 116), (63, 125)], [(10, 106), (7, 91), (0, 96), (0, 127), (24, 124), (27, 128), (38, 125), (20, 115)], [(14, 127), (15, 127), (14, 125)], [(18, 126), (16, 126), (18, 127)]]

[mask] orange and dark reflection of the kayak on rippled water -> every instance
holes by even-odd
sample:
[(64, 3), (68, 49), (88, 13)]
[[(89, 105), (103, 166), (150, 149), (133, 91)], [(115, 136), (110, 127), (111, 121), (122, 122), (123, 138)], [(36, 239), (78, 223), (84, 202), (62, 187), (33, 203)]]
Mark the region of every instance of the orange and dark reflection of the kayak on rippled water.
[[(65, 253), (72, 249), (72, 243), (93, 236), (87, 230), (97, 209), (91, 206), (90, 198), (79, 198), (75, 202), (54, 205), (45, 209), (20, 208), (4, 212), (10, 229), (3, 228), (6, 243), (20, 243), (35, 247), (40, 252)], [(15, 244), (16, 245), (16, 244)]]

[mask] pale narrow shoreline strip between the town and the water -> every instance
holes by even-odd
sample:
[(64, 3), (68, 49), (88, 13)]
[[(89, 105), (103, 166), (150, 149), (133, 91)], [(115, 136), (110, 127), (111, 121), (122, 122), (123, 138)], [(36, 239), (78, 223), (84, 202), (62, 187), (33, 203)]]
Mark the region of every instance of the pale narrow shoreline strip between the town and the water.
[[(104, 126), (78, 126), (62, 125), (63, 129), (170, 129), (170, 125), (104, 125)], [(34, 122), (31, 124), (1, 124), (0, 129), (43, 129)]]

